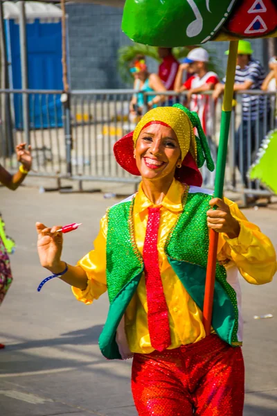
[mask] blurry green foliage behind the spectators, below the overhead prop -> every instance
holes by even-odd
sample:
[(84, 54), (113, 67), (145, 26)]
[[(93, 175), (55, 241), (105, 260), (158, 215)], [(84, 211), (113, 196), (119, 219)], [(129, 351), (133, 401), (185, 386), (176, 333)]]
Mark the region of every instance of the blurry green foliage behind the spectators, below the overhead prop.
[[(218, 64), (215, 58), (215, 49), (205, 48), (210, 54), (210, 62), (208, 64), (209, 71), (215, 71), (220, 77), (223, 75), (222, 67)], [(177, 60), (186, 58), (190, 49), (186, 46), (173, 48), (172, 52)], [(143, 44), (133, 43), (128, 46), (121, 46), (118, 49), (117, 67), (123, 83), (130, 84), (133, 81), (132, 74), (129, 72), (129, 64), (136, 57), (136, 55), (145, 55), (147, 58), (153, 58), (157, 62), (161, 62), (158, 55), (158, 48), (156, 46), (147, 46)]]

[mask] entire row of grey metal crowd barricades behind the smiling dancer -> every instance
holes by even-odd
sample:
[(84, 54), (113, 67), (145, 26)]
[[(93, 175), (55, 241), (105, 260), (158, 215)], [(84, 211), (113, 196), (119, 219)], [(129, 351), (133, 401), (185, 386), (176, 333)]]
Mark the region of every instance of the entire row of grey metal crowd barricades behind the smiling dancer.
[[(33, 148), (33, 170), (31, 174), (66, 177), (73, 180), (105, 182), (139, 182), (124, 171), (114, 159), (114, 143), (134, 130), (139, 114), (129, 116), (129, 103), (134, 94), (143, 94), (142, 113), (148, 111), (148, 99), (162, 95), (159, 105), (186, 103), (186, 92), (139, 92), (133, 89), (75, 90), (70, 92), (69, 118), (63, 110), (62, 91), (8, 90), (0, 89), (0, 163), (10, 171), (17, 168), (15, 146), (24, 141), (23, 94), (28, 94), (30, 114), (29, 141)], [(208, 141), (213, 158), (216, 159), (220, 135), (221, 100), (213, 101), (212, 92), (205, 92), (209, 116), (206, 125)], [(248, 119), (243, 120), (242, 100), (247, 96), (257, 97), (255, 118), (253, 109)], [(256, 98), (255, 98), (256, 97)], [(66, 98), (65, 98), (66, 99)], [(194, 98), (193, 98), (194, 99)], [(240, 191), (242, 194), (269, 193), (261, 189), (256, 181), (251, 184), (246, 177), (247, 169), (253, 162), (262, 139), (269, 130), (276, 127), (276, 95), (260, 90), (247, 90), (236, 95), (237, 105), (233, 107), (229, 140), (229, 157), (226, 166), (225, 188)], [(192, 103), (193, 105), (193, 103)], [(245, 106), (244, 106), (245, 107)], [(202, 118), (199, 114), (200, 119)], [(66, 128), (64, 127), (66, 125)], [(70, 139), (70, 140), (69, 140)], [(242, 173), (242, 175), (240, 174)], [(202, 168), (204, 187), (213, 188), (214, 173)], [(244, 181), (242, 180), (244, 178)], [(253, 188), (253, 189), (252, 189)]]

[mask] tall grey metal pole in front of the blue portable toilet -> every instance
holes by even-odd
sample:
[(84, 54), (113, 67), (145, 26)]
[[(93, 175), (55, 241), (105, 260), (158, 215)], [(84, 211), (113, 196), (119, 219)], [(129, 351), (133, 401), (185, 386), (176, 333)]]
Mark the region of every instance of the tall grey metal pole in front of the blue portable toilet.
[[(28, 89), (28, 60), (27, 60), (27, 39), (26, 39), (26, 14), (25, 1), (19, 1), (19, 37), (20, 37), (20, 58), (21, 58), (21, 88)], [(23, 99), (23, 126), (24, 140), (30, 144), (29, 126), (29, 97), (24, 93)]]

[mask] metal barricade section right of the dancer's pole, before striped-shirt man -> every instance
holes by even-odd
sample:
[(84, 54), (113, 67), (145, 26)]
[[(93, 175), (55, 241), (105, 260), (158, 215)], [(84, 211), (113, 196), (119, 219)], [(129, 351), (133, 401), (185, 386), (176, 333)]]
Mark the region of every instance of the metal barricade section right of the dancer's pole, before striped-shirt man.
[[(276, 93), (247, 90), (238, 92), (235, 98), (228, 165), (231, 189), (240, 191), (247, 202), (247, 196), (271, 195), (258, 180), (249, 180), (247, 172), (256, 159), (262, 140), (270, 130), (277, 128)], [(249, 107), (248, 103), (251, 103)]]

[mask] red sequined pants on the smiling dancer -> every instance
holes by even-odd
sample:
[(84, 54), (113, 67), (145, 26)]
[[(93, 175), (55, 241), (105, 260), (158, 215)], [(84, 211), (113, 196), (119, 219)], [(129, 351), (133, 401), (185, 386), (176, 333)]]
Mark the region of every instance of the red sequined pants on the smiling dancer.
[(134, 354), (132, 392), (139, 416), (242, 416), (241, 348), (210, 335), (177, 349)]

